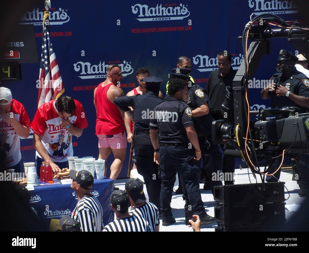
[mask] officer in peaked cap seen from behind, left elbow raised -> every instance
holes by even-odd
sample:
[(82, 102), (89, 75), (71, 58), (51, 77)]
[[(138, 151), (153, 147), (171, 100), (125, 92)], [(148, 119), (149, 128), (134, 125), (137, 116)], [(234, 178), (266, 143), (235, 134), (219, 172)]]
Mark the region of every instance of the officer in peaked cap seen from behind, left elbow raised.
[[(129, 114), (134, 113), (134, 152), (132, 160), (137, 171), (143, 176), (149, 201), (160, 207), (161, 178), (158, 176), (158, 165), (154, 162), (154, 148), (151, 145), (149, 135), (150, 119), (154, 117), (154, 108), (163, 102), (159, 97), (160, 84), (163, 79), (151, 76), (144, 78), (146, 82), (146, 94), (135, 96), (122, 96), (116, 98), (114, 103), (118, 108)], [(128, 106), (134, 107), (131, 111)]]

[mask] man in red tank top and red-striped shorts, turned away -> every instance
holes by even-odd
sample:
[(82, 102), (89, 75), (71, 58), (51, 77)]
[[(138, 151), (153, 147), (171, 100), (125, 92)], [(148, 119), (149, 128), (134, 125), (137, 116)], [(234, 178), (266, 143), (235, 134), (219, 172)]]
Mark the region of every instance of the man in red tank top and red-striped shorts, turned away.
[(120, 67), (115, 64), (107, 67), (106, 74), (106, 80), (94, 90), (94, 104), (97, 112), (95, 134), (99, 138), (99, 158), (106, 161), (113, 152), (115, 160), (110, 167), (110, 178), (116, 180), (125, 160), (127, 148), (123, 125), (124, 112), (113, 103), (114, 99), (124, 95), (121, 88), (117, 87), (123, 76)]

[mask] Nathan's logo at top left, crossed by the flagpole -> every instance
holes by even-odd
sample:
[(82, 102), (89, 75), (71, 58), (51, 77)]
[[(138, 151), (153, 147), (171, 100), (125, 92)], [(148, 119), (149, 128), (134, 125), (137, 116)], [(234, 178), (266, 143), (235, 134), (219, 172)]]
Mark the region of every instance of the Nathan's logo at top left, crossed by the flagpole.
[[(55, 8), (54, 8), (55, 9)], [(63, 23), (69, 22), (70, 17), (66, 14), (65, 9), (59, 8), (59, 11), (49, 11), (49, 24), (50, 25), (62, 25)], [(21, 17), (21, 23), (23, 25), (33, 24), (33, 25), (43, 25), (44, 11), (39, 11), (39, 8), (33, 11), (27, 11)], [(28, 22), (30, 21), (30, 22)]]

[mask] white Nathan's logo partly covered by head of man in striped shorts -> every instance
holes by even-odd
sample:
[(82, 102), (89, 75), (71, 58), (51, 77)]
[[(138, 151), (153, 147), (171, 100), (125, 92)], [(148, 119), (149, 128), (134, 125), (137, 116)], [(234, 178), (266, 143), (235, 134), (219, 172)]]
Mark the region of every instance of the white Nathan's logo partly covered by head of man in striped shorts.
[[(120, 61), (119, 61), (120, 62)], [(133, 73), (133, 68), (130, 64), (132, 62), (123, 61), (123, 63), (116, 63), (121, 69), (122, 75), (127, 76), (129, 74)], [(89, 78), (106, 78), (106, 74), (102, 75), (103, 73), (106, 73), (106, 68), (109, 66), (109, 64), (105, 64), (105, 61), (99, 62), (98, 65), (91, 65), (90, 62), (83, 62), (78, 61), (74, 63), (74, 70), (76, 72), (80, 72), (82, 76), (78, 76), (82, 79), (89, 79)], [(93, 75), (95, 74), (95, 75)]]

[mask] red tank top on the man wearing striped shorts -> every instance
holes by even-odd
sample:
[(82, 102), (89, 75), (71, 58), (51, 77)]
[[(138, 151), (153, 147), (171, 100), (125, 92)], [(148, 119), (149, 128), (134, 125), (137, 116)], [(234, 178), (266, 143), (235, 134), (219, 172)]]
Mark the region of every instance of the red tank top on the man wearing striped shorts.
[(118, 107), (107, 98), (107, 91), (111, 85), (114, 84), (110, 83), (102, 87), (100, 83), (95, 92), (95, 105), (97, 108), (95, 134), (113, 135), (125, 131)]

